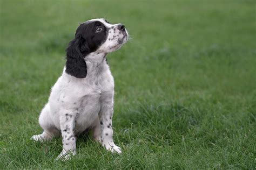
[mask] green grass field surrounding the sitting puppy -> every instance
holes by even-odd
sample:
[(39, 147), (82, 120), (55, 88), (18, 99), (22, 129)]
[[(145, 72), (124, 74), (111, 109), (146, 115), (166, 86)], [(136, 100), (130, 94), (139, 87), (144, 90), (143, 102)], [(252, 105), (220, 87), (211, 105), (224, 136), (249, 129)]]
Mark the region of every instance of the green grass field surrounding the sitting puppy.
[[(0, 4), (0, 169), (254, 169), (255, 1), (3, 1)], [(39, 112), (62, 73), (79, 22), (123, 23), (131, 40), (108, 55), (121, 155), (60, 138)]]

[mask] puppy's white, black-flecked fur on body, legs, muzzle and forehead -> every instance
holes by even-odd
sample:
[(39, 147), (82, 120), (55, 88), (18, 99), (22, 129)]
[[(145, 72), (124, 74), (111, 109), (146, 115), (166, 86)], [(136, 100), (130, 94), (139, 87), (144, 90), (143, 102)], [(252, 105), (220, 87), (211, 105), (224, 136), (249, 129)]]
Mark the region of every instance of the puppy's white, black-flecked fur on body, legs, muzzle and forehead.
[[(104, 19), (94, 20), (112, 27), (112, 31), (96, 52), (85, 57), (87, 75), (84, 79), (67, 74), (64, 67), (39, 116), (44, 132), (31, 137), (43, 141), (62, 134), (63, 151), (58, 158), (69, 159), (70, 153), (75, 155), (76, 135), (87, 129), (93, 130), (93, 138), (107, 150), (121, 153), (112, 139), (114, 80), (105, 56), (119, 49), (127, 41), (128, 34), (114, 33), (113, 29), (117, 29), (118, 24), (108, 24)], [(123, 39), (122, 44), (118, 44), (118, 38)]]

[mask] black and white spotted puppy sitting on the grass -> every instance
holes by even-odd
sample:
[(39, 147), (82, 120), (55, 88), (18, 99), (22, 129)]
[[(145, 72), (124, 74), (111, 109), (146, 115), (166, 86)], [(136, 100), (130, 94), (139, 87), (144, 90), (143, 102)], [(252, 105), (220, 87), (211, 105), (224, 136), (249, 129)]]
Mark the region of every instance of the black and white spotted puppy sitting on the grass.
[(92, 129), (93, 139), (107, 150), (121, 153), (112, 138), (114, 80), (106, 55), (127, 39), (123, 24), (110, 24), (105, 19), (78, 26), (66, 49), (63, 73), (39, 116), (44, 131), (31, 137), (43, 141), (62, 134), (63, 150), (57, 159), (75, 155), (76, 136), (87, 129)]

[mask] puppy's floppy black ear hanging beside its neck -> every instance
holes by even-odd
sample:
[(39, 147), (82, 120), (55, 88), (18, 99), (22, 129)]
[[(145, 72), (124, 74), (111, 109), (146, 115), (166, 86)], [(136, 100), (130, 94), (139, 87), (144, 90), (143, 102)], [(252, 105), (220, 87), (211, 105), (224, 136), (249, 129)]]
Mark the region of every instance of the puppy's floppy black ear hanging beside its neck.
[(65, 72), (77, 78), (85, 78), (87, 75), (84, 55), (80, 51), (80, 49), (84, 48), (84, 46), (84, 40), (82, 38), (76, 37), (69, 42), (69, 46), (66, 48)]

